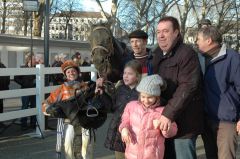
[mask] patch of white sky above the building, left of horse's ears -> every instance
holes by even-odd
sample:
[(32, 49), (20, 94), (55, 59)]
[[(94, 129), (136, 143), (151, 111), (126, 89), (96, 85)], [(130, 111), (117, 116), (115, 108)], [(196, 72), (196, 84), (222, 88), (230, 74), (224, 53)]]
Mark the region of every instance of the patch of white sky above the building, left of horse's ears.
[[(98, 6), (95, 0), (81, 0), (81, 6), (83, 6), (84, 11), (100, 11), (100, 7)], [(106, 2), (102, 2), (102, 6), (105, 12), (110, 13), (111, 11), (111, 0), (107, 0)]]

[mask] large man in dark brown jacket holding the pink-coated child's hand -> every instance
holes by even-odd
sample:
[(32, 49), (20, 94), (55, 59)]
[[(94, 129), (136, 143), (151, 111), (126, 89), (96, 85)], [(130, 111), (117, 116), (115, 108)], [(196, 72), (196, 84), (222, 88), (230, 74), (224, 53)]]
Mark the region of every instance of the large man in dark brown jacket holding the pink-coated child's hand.
[(153, 51), (153, 70), (167, 83), (161, 94), (165, 109), (160, 117), (160, 129), (169, 130), (173, 121), (178, 125), (175, 139), (166, 140), (165, 158), (195, 159), (196, 139), (203, 128), (198, 56), (183, 43), (174, 17), (163, 17), (159, 21), (157, 40), (159, 47)]

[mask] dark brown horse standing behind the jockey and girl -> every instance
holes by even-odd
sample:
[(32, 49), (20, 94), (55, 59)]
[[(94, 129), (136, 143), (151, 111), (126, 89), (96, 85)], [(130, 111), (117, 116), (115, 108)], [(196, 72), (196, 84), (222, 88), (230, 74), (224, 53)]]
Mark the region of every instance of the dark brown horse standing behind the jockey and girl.
[(126, 44), (113, 36), (107, 23), (91, 25), (89, 42), (98, 75), (113, 83), (122, 79), (125, 63), (134, 59)]

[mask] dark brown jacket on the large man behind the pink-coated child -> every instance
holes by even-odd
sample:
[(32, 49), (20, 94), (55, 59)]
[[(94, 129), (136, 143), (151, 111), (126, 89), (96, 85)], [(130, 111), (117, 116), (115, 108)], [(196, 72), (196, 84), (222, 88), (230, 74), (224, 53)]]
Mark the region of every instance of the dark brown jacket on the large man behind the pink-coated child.
[(167, 89), (161, 93), (166, 101), (162, 114), (176, 121), (176, 137), (190, 138), (200, 134), (203, 129), (203, 95), (197, 53), (178, 39), (166, 55), (159, 47), (153, 51), (153, 69), (167, 83)]

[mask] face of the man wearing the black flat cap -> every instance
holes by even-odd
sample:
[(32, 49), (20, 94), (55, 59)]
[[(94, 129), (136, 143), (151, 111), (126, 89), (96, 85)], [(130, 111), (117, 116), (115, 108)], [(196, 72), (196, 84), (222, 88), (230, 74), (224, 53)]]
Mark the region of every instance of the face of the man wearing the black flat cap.
[(130, 44), (131, 44), (134, 54), (145, 55), (147, 53), (146, 52), (146, 45), (147, 45), (146, 39), (131, 38)]

